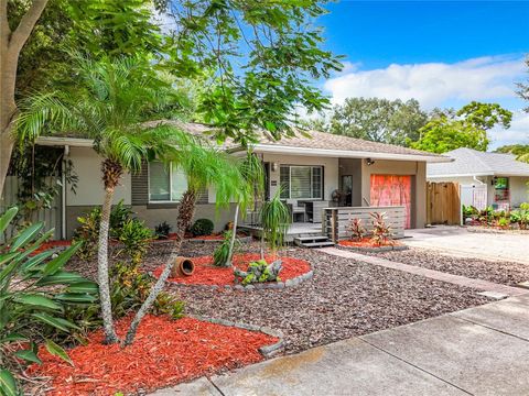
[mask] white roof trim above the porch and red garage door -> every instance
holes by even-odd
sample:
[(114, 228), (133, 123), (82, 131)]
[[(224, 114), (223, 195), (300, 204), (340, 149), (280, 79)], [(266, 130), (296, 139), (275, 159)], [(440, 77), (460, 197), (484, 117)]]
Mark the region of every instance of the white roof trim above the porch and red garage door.
[(292, 154), (303, 156), (326, 156), (343, 158), (373, 158), (373, 160), (398, 160), (398, 161), (419, 161), (429, 163), (449, 163), (454, 160), (447, 156), (430, 156), (420, 154), (393, 154), (378, 153), (370, 151), (353, 150), (328, 150), (328, 148), (309, 148), (285, 145), (256, 144), (253, 150), (260, 153)]

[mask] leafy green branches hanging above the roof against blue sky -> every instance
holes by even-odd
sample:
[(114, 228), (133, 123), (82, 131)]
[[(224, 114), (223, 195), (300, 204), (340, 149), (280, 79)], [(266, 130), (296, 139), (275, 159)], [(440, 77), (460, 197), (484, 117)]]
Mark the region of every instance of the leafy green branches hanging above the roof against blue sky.
[[(324, 1), (325, 2), (325, 1)], [(326, 12), (317, 0), (160, 1), (173, 25), (173, 73), (204, 78), (198, 110), (216, 136), (247, 144), (266, 130), (293, 135), (299, 106), (328, 105), (310, 81), (341, 69), (323, 51), (314, 23)]]

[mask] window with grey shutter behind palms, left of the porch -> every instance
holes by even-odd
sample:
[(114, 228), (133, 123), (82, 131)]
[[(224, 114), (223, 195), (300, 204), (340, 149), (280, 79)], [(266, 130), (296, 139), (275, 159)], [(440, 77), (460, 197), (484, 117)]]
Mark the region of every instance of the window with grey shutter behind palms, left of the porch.
[(176, 166), (149, 163), (149, 201), (177, 202), (187, 189), (187, 178)]

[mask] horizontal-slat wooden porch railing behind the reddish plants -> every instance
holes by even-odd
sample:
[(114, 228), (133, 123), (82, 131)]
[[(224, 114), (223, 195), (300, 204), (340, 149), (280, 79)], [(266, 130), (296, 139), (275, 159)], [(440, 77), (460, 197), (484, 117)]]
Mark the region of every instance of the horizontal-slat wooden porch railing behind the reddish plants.
[(333, 242), (350, 237), (347, 231), (353, 219), (360, 219), (367, 231), (373, 230), (373, 217), (369, 213), (386, 213), (393, 238), (404, 237), (406, 208), (390, 207), (338, 207), (323, 209), (322, 232)]

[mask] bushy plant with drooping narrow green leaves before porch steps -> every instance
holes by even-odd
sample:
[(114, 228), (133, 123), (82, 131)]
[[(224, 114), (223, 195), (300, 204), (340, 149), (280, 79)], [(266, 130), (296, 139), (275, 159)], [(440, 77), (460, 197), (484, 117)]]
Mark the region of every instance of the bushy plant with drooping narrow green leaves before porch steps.
[(271, 200), (264, 202), (260, 210), (261, 233), (261, 258), (264, 258), (264, 240), (272, 255), (284, 244), (284, 237), (289, 230), (292, 217), (290, 210), (281, 201), (281, 189), (278, 189)]

